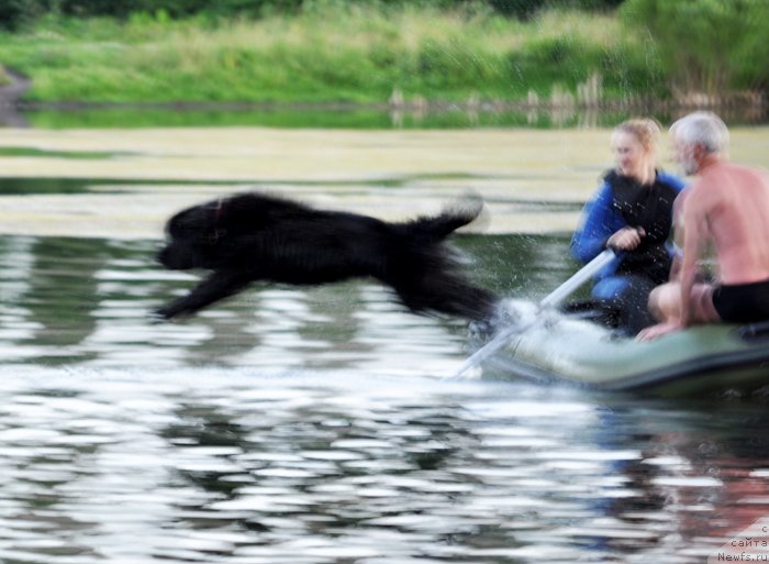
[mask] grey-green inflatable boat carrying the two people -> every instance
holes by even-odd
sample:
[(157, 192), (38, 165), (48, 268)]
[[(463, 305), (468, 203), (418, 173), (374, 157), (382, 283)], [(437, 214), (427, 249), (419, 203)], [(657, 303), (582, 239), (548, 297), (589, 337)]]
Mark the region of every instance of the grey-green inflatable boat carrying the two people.
[(639, 342), (586, 320), (523, 323), (483, 377), (528, 378), (655, 396), (769, 395), (769, 322), (712, 324)]

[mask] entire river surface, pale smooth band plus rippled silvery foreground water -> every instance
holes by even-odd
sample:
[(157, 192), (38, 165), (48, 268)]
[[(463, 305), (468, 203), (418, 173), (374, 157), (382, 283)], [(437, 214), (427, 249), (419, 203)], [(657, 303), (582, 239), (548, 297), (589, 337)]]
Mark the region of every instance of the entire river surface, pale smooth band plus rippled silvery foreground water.
[[(368, 280), (149, 314), (196, 281), (154, 263), (165, 218), (254, 186), (386, 219), (475, 190), (468, 272), (537, 300), (609, 131), (64, 126), (0, 135), (3, 564), (689, 564), (766, 534), (759, 399), (448, 378), (466, 324)], [(734, 157), (768, 166), (768, 131)]]

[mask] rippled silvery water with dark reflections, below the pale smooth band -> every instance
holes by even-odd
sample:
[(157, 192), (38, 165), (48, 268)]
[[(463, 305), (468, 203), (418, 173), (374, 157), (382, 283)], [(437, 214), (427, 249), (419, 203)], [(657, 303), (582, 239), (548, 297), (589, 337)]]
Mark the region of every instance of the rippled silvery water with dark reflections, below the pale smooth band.
[[(764, 403), (444, 378), (467, 328), (367, 281), (156, 323), (156, 245), (0, 239), (0, 562), (692, 563), (769, 516)], [(519, 297), (572, 268), (459, 245)]]

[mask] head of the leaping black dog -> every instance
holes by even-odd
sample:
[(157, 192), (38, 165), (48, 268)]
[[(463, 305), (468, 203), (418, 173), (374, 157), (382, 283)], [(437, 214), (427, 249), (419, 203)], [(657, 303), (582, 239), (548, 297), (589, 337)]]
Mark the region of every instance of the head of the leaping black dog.
[(166, 223), (166, 244), (157, 261), (171, 270), (215, 268), (218, 246), (226, 234), (221, 224), (223, 202), (182, 210)]

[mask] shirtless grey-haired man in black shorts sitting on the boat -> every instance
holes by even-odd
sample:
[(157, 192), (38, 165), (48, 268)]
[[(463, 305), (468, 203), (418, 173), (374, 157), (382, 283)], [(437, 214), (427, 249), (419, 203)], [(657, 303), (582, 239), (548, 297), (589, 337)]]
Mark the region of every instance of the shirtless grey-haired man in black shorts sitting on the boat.
[[(769, 320), (769, 175), (729, 163), (728, 131), (718, 117), (695, 112), (670, 128), (676, 161), (700, 175), (680, 201), (683, 255), (679, 278), (655, 289), (649, 308), (660, 321), (638, 339), (696, 323)], [(696, 262), (712, 243), (720, 280), (695, 283)]]

